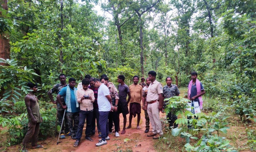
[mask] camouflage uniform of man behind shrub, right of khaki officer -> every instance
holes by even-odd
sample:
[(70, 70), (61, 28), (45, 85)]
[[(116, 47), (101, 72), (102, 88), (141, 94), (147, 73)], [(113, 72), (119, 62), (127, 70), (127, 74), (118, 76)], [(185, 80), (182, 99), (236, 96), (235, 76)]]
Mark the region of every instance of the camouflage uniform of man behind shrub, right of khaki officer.
[[(170, 97), (174, 97), (179, 95), (179, 89), (176, 85), (171, 84), (170, 87), (168, 87), (167, 85), (164, 86), (163, 88), (163, 97), (164, 99), (170, 98)], [(166, 106), (166, 102), (164, 101), (164, 107)], [(169, 127), (174, 126), (174, 128), (178, 127), (178, 124), (175, 124), (175, 120), (177, 120), (177, 116), (175, 114), (173, 114), (172, 112), (169, 112), (167, 115), (167, 120), (169, 123)]]

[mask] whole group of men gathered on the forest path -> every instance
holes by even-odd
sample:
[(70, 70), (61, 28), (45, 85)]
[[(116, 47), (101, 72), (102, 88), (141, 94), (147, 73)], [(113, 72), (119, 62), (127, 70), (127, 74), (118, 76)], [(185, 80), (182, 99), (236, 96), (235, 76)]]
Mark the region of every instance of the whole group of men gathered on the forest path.
[[(191, 82), (189, 83), (188, 90), (189, 98), (191, 100), (199, 101), (205, 92), (202, 84), (196, 79), (197, 73), (191, 73)], [(138, 84), (139, 77), (133, 77), (133, 84), (129, 87), (124, 83), (125, 77), (123, 75), (118, 76), (119, 85), (117, 88), (113, 83), (109, 82), (109, 78), (103, 74), (100, 79), (92, 78), (90, 75), (86, 75), (81, 83), (76, 86), (76, 79), (69, 78), (68, 84), (66, 84), (66, 76), (64, 74), (59, 75), (60, 83), (54, 85), (52, 89), (48, 91), (48, 96), (52, 103), (57, 104), (57, 116), (59, 125), (64, 118), (64, 124), (61, 128), (60, 138), (65, 138), (66, 135), (70, 135), (72, 139), (76, 140), (73, 146), (78, 147), (84, 123), (86, 120), (86, 137), (85, 139), (93, 142), (91, 138), (95, 135), (95, 120), (97, 121), (98, 130), (98, 143), (96, 146), (102, 146), (107, 144), (106, 140), (110, 140), (108, 136), (112, 133), (112, 126), (114, 123), (115, 137), (119, 137), (120, 131), (120, 119), (119, 115), (123, 116), (123, 128), (121, 134), (125, 134), (126, 129), (131, 128), (132, 118), (137, 115), (137, 129), (140, 129), (140, 113), (141, 102), (142, 109), (145, 112), (146, 129), (145, 133), (149, 132), (149, 122), (151, 122), (152, 132), (148, 134), (148, 137), (153, 139), (161, 138), (163, 135), (162, 124), (159, 117), (159, 112), (165, 107), (163, 99), (173, 96), (179, 96), (180, 92), (176, 85), (172, 84), (172, 78), (166, 78), (166, 86), (162, 87), (162, 84), (156, 80), (156, 72), (148, 72), (148, 77), (141, 78), (141, 83)], [(35, 94), (37, 92), (37, 84), (28, 83), (28, 86), (33, 91), (30, 91), (25, 97), (25, 103), (28, 111), (29, 118), (29, 130), (23, 141), (23, 151), (32, 138), (32, 148), (42, 148), (42, 145), (37, 145), (37, 138), (39, 132), (39, 124), (42, 122), (39, 113), (38, 99)], [(200, 92), (198, 91), (200, 90)], [(52, 93), (57, 93), (57, 100), (53, 99)], [(128, 99), (127, 99), (128, 96)], [(126, 100), (127, 99), (127, 100)], [(128, 103), (130, 103), (130, 109), (128, 109)], [(32, 108), (33, 107), (33, 108)], [(65, 112), (65, 110), (67, 112)], [(64, 115), (64, 113), (66, 113)], [(126, 127), (126, 115), (129, 115), (129, 125)], [(176, 128), (175, 120), (177, 116), (172, 112), (167, 114), (167, 120), (169, 127)]]

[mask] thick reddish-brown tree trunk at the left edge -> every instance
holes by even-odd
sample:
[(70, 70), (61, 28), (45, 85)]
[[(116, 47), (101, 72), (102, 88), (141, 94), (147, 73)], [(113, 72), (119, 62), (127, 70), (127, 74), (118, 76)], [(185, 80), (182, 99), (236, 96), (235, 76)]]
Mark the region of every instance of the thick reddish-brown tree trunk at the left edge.
[[(7, 0), (1, 1), (1, 6), (3, 9), (8, 10)], [(0, 16), (2, 16), (2, 12), (0, 11)], [(0, 58), (10, 59), (10, 45), (9, 45), (9, 34), (8, 32), (0, 33)], [(4, 63), (0, 63), (0, 65), (5, 65)]]

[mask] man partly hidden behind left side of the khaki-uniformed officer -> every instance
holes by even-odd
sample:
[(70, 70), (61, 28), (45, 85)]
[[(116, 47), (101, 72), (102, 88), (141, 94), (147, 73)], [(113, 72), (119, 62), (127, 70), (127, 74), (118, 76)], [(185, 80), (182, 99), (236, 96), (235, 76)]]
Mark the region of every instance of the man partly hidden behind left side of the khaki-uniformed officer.
[(145, 102), (147, 102), (147, 91), (148, 91), (148, 86), (150, 85), (151, 81), (146, 78), (146, 86), (142, 90), (142, 109), (144, 110), (145, 113), (145, 119), (146, 119), (146, 130), (145, 133), (149, 132), (149, 117), (147, 114), (147, 110), (145, 110)]

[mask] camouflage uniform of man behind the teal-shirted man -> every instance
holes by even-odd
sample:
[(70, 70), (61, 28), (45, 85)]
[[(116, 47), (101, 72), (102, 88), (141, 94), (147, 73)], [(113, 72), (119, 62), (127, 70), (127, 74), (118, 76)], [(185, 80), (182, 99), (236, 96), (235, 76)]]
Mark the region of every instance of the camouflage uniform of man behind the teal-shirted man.
[[(58, 93), (60, 92), (60, 90), (64, 87), (66, 87), (67, 84), (64, 86), (62, 85), (61, 83), (59, 84), (56, 84), (53, 86), (52, 89), (49, 90), (49, 92), (52, 94), (54, 92), (56, 92), (56, 94), (58, 95)], [(64, 101), (64, 97), (61, 97), (61, 102), (63, 105), (66, 105), (65, 101)], [(62, 119), (63, 119), (63, 115), (64, 115), (64, 111), (65, 109), (63, 109), (60, 104), (58, 103), (57, 104), (57, 110), (58, 110), (58, 114), (57, 114), (57, 117), (58, 117), (58, 124), (61, 126), (61, 122), (62, 122)], [(61, 128), (61, 134), (66, 134), (69, 132), (69, 129), (68, 129), (68, 120), (67, 120), (67, 113), (65, 114), (65, 118), (64, 118), (64, 123), (65, 125), (62, 126)]]

